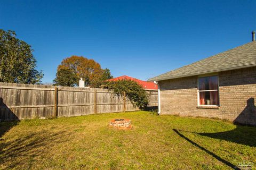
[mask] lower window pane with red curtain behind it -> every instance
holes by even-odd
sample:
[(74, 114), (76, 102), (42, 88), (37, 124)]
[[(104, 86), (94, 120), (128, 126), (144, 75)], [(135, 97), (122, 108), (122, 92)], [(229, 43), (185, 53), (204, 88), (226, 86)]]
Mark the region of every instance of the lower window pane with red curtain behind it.
[(219, 105), (219, 91), (199, 92), (200, 105)]

